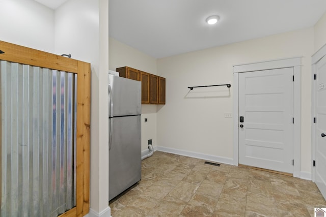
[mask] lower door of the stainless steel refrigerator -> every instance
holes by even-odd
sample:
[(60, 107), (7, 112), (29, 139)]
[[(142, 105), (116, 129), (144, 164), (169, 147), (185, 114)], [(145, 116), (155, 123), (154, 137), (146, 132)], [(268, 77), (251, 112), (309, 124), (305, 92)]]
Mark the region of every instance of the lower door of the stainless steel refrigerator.
[(141, 180), (141, 116), (109, 118), (109, 200)]

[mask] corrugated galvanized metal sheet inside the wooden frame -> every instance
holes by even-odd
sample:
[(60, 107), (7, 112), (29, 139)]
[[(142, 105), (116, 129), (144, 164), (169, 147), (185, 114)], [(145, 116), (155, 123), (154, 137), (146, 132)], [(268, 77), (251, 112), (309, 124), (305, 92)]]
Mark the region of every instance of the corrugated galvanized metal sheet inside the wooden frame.
[(1, 61), (1, 216), (76, 204), (76, 76)]

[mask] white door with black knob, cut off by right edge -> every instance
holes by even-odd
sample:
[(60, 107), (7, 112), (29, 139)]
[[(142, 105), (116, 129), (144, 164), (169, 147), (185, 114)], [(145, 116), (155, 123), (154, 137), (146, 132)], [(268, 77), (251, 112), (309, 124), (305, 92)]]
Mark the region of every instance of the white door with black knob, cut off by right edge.
[(326, 57), (316, 65), (315, 183), (326, 198)]

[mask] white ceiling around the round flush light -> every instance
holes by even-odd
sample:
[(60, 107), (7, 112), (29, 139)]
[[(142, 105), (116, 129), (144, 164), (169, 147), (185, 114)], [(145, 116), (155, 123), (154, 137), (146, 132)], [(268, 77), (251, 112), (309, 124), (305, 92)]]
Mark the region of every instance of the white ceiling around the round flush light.
[[(109, 35), (156, 58), (312, 27), (326, 11), (325, 0), (108, 1)], [(210, 15), (220, 21), (208, 25)]]

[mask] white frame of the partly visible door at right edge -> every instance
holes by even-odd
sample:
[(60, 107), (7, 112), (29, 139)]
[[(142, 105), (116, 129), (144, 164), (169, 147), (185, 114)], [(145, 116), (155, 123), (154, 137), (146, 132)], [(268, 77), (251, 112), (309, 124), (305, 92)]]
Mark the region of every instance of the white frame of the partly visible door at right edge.
[[(316, 65), (318, 61), (326, 55), (326, 44), (322, 46), (316, 53), (314, 53), (311, 57), (311, 64), (312, 64), (312, 117), (316, 117), (316, 80), (313, 79), (314, 74), (316, 74)], [(316, 150), (316, 126), (314, 123), (311, 125), (311, 144), (312, 144), (312, 150), (311, 150), (311, 175), (312, 175), (312, 181), (315, 182), (315, 167), (313, 166), (313, 160), (315, 160), (315, 150)]]

